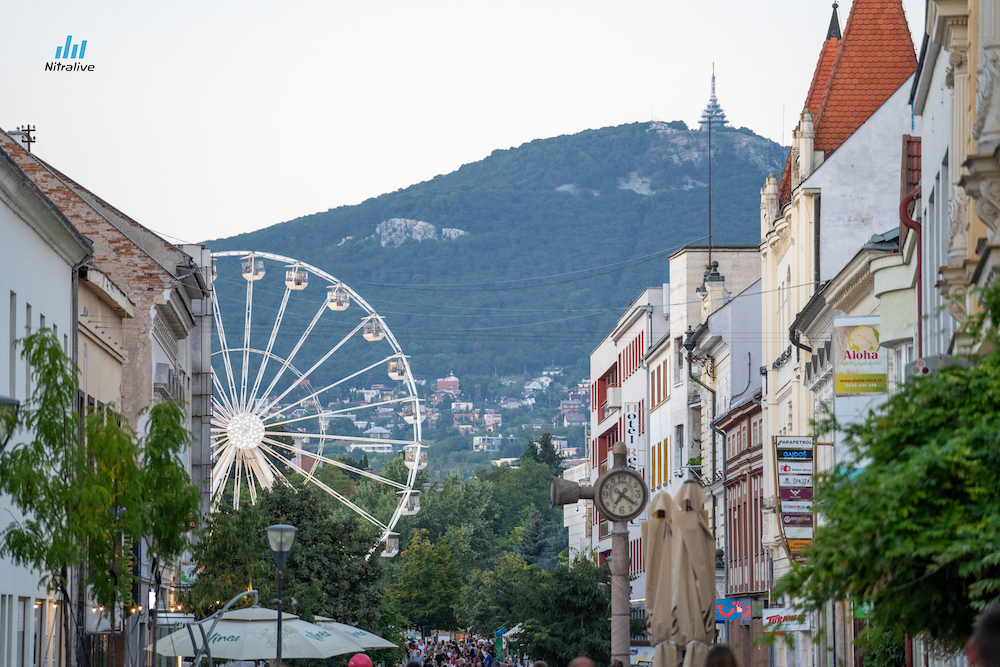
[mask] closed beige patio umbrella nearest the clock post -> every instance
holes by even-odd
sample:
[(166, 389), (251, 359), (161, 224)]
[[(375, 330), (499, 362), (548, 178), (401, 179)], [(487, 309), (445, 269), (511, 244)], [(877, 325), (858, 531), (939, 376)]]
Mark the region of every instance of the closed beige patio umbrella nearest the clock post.
[(646, 549), (646, 632), (652, 646), (671, 638), (670, 523), (676, 509), (673, 498), (660, 491), (650, 500), (650, 518), (642, 522), (642, 543)]

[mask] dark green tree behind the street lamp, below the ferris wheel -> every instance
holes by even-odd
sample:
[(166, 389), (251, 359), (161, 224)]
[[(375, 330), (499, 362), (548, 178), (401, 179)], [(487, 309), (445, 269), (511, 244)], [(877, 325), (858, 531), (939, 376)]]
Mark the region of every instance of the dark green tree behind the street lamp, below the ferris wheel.
[(195, 551), (204, 568), (190, 593), (195, 613), (205, 616), (248, 588), (273, 606), (277, 568), (264, 529), (288, 523), (299, 530), (285, 566), (285, 608), (305, 620), (319, 614), (378, 632), (380, 559), (365, 560), (374, 537), (353, 517), (335, 516), (333, 503), (300, 484), (276, 486), (239, 510), (220, 507)]

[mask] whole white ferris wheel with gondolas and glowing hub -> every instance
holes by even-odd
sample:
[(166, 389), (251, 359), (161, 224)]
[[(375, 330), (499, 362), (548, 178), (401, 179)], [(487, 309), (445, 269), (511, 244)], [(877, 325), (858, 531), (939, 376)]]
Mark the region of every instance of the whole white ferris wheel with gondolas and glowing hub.
[[(357, 292), (321, 269), (265, 252), (212, 257), (212, 497), (218, 502), (227, 491), (234, 507), (244, 494), (256, 503), (261, 489), (298, 474), (375, 526), (379, 537), (369, 557), (380, 545), (383, 556), (396, 555), (397, 522), (420, 509), (413, 485), (427, 466), (427, 451), (416, 383), (395, 336)], [(220, 303), (218, 287), (226, 280), (245, 281), (245, 299)], [(368, 428), (376, 420), (397, 428)], [(326, 452), (334, 446), (386, 454), (402, 449), (406, 479), (344, 463)], [(395, 491), (392, 516), (379, 519), (332, 488), (317, 476), (321, 466)]]

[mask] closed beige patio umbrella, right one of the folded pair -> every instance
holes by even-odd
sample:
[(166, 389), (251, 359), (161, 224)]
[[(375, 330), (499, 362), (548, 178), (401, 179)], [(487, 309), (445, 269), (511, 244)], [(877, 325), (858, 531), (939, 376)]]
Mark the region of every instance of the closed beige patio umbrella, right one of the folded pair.
[(694, 480), (674, 498), (670, 544), (674, 627), (678, 644), (715, 639), (715, 538), (708, 527), (705, 492)]

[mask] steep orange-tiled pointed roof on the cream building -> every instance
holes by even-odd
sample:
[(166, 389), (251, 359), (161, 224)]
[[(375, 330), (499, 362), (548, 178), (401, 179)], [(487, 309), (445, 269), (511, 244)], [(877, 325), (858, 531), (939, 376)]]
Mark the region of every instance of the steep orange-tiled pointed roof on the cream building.
[[(854, 0), (843, 37), (835, 2), (806, 95), (815, 149), (826, 155), (837, 150), (916, 67), (902, 0)], [(779, 201), (788, 200), (790, 180), (791, 154), (781, 174)]]

